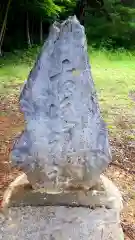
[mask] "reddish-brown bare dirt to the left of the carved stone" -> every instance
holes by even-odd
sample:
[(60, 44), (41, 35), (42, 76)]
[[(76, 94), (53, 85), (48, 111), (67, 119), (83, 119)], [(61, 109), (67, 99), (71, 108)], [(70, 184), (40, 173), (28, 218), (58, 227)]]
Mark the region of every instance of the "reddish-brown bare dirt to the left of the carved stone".
[(16, 98), (2, 101), (0, 105), (0, 199), (8, 184), (19, 172), (9, 164), (9, 154), (14, 138), (23, 129), (23, 118), (19, 113)]

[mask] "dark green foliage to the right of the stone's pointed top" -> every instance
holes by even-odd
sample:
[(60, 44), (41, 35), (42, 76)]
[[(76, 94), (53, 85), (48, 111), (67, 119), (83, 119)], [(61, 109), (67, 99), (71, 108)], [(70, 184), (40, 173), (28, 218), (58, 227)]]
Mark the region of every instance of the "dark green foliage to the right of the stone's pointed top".
[(134, 48), (134, 7), (105, 0), (98, 11), (88, 6), (85, 18), (88, 40), (94, 46)]

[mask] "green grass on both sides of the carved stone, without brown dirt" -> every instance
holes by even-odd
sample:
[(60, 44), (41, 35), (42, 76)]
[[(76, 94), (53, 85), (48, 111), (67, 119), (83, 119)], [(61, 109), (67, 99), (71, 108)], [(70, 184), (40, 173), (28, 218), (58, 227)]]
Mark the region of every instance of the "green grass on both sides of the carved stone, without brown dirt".
[[(38, 51), (39, 47), (16, 51), (0, 59), (2, 96), (19, 90), (18, 86), (27, 78)], [(101, 111), (110, 131), (133, 128), (135, 105), (129, 92), (135, 90), (135, 54), (123, 49), (115, 52), (89, 49), (89, 56)], [(128, 127), (123, 127), (122, 122), (127, 121)], [(133, 137), (131, 132), (128, 136)]]

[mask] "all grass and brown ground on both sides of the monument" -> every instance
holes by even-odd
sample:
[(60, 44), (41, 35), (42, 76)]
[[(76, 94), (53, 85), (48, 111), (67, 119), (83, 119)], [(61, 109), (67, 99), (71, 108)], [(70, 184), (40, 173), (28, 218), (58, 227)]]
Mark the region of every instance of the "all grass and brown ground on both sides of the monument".
[[(39, 47), (16, 51), (0, 59), (1, 196), (3, 189), (16, 176), (6, 167), (9, 166), (11, 143), (23, 127), (16, 102), (20, 86), (27, 79), (38, 51)], [(118, 185), (127, 204), (122, 220), (132, 225), (135, 222), (135, 54), (125, 50), (107, 52), (89, 49), (89, 56), (116, 163), (108, 168), (106, 174)]]

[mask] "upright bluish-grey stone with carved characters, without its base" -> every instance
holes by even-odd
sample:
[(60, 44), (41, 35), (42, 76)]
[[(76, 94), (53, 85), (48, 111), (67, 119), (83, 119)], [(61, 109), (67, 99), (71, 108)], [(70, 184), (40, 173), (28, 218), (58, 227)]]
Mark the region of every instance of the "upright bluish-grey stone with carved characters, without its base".
[(11, 159), (35, 188), (90, 188), (111, 161), (76, 17), (54, 23), (20, 94), (26, 126)]

